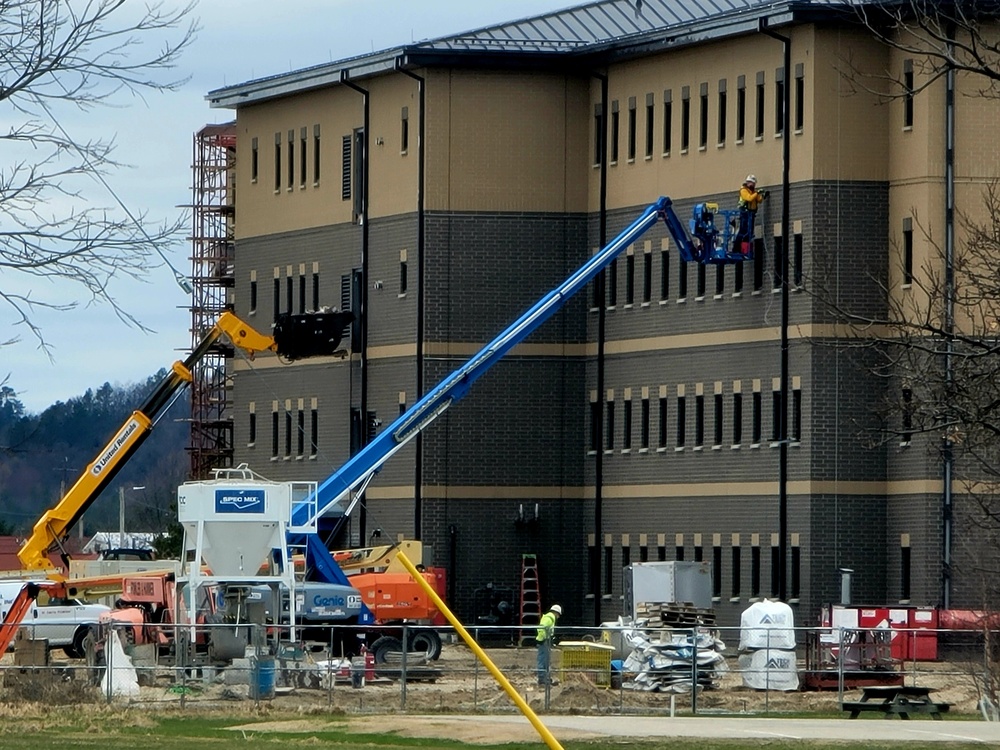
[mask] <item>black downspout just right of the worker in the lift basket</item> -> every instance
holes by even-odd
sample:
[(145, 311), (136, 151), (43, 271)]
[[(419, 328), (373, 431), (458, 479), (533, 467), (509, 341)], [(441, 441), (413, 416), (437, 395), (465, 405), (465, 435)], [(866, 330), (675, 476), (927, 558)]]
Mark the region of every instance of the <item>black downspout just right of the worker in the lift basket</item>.
[[(778, 432), (778, 598), (788, 601), (788, 255), (792, 249), (789, 227), (789, 163), (791, 159), (791, 110), (792, 110), (792, 40), (772, 31), (768, 19), (761, 18), (758, 29), (762, 34), (781, 42), (784, 49), (782, 65), (785, 70), (785, 86), (781, 102), (781, 426)], [(796, 592), (797, 593), (797, 592)]]

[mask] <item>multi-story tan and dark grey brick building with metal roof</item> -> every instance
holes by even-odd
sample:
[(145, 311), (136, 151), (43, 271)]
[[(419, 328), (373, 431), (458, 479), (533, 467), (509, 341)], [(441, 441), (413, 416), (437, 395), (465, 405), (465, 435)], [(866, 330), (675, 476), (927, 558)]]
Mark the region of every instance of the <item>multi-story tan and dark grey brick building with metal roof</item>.
[(350, 541), (421, 538), (467, 618), (488, 584), (516, 595), (524, 553), (577, 623), (620, 611), (623, 564), (679, 558), (713, 562), (727, 624), (781, 593), (811, 623), (839, 568), (855, 601), (976, 605), (971, 577), (945, 583), (969, 550), (941, 466), (918, 438), (864, 439), (899, 385), (810, 283), (861, 314), (915, 293), (913, 217), (944, 222), (946, 180), (971, 207), (997, 174), (993, 105), (943, 80), (880, 97), (845, 60), (919, 87), (828, 3), (646, 0), (211, 92), (236, 113), (236, 312), (359, 314), (347, 357), (233, 363), (235, 460), (327, 476), (657, 196), (735, 207), (755, 173), (755, 261), (684, 264), (650, 231), (386, 465)]

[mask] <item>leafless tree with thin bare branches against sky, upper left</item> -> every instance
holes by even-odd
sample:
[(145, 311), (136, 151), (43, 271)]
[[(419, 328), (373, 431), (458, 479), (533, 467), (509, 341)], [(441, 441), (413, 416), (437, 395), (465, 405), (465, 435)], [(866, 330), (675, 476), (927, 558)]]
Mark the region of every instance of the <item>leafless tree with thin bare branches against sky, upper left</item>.
[[(123, 166), (113, 158), (113, 139), (76, 138), (61, 118), (178, 88), (184, 79), (173, 69), (197, 31), (192, 9), (0, 0), (0, 104), (11, 123), (0, 133), (7, 147), (0, 165), (0, 300), (42, 348), (33, 314), (81, 301), (38, 292), (52, 281), (66, 282), (61, 295), (70, 286), (82, 301), (109, 304), (120, 319), (143, 327), (115, 302), (109, 282), (141, 278), (159, 265), (157, 256), (180, 238), (183, 219), (147, 226), (146, 215), (133, 214), (105, 181)], [(119, 206), (95, 205), (95, 192)]]

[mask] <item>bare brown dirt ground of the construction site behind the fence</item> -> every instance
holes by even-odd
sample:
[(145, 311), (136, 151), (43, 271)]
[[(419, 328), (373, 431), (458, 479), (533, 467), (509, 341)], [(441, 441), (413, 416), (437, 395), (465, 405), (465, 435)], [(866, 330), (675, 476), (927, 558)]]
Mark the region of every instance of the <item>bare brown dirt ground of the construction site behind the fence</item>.
[[(538, 713), (560, 714), (668, 714), (671, 708), (678, 714), (691, 712), (689, 693), (642, 692), (595, 684), (592, 673), (559, 671), (555, 674), (559, 684), (550, 688), (546, 696), (543, 688), (536, 684), (534, 675), (535, 651), (532, 648), (487, 649), (496, 666), (511, 681), (517, 694)], [(55, 653), (53, 656), (57, 656)], [(9, 665), (11, 655), (3, 660)], [(702, 690), (697, 695), (699, 714), (808, 714), (826, 713), (838, 715), (838, 694), (836, 690), (826, 691), (760, 691), (745, 687), (742, 676), (735, 671), (737, 659), (728, 656), (728, 672), (720, 675), (715, 689)], [(73, 674), (74, 683), (81, 681), (82, 668), (71, 662), (64, 662)], [(499, 686), (464, 644), (446, 645), (440, 660), (427, 668), (417, 668), (415, 681), (404, 686), (399, 679), (380, 677), (366, 682), (362, 688), (352, 687), (348, 676), (336, 677), (332, 669), (315, 664), (299, 664), (291, 668), (289, 663), (277, 663), (275, 696), (270, 701), (261, 701), (261, 707), (276, 713), (298, 713), (299, 715), (340, 715), (351, 718), (363, 727), (367, 723), (381, 731), (405, 724), (407, 732), (440, 731), (434, 729), (432, 718), (423, 723), (409, 718), (403, 721), (402, 714), (443, 714), (443, 713), (517, 713), (518, 708), (512, 698)], [(72, 673), (72, 670), (77, 671)], [(413, 669), (411, 665), (410, 669)], [(921, 662), (906, 665), (906, 684), (934, 688), (936, 702), (952, 704), (952, 713), (973, 714), (977, 711), (978, 693), (972, 678), (973, 669), (968, 665), (943, 662)], [(9, 674), (9, 673), (8, 673)], [(225, 673), (196, 674), (184, 686), (173, 682), (173, 672), (159, 670), (159, 679), (144, 680), (135, 703), (169, 706), (182, 703), (186, 708), (224, 707), (228, 705), (234, 714), (239, 713), (238, 705), (254, 704), (246, 680), (242, 684), (225, 679)], [(56, 696), (66, 692), (66, 675), (57, 676), (49, 694)], [(332, 679), (331, 679), (332, 678)], [(58, 687), (62, 680), (64, 687)], [(404, 690), (405, 687), (405, 690)], [(10, 693), (11, 688), (3, 691)], [(96, 691), (96, 689), (95, 689)], [(6, 696), (8, 700), (11, 697)], [(30, 697), (30, 696), (25, 696)], [(857, 700), (860, 692), (855, 689), (845, 694), (847, 700)], [(102, 696), (95, 694), (95, 700)], [(372, 718), (371, 715), (378, 715)], [(423, 729), (421, 729), (423, 727)], [(363, 731), (363, 730), (359, 730)], [(477, 738), (475, 725), (465, 727), (463, 732), (471, 733), (465, 741), (496, 741), (493, 733)], [(512, 738), (513, 740), (513, 738)]]

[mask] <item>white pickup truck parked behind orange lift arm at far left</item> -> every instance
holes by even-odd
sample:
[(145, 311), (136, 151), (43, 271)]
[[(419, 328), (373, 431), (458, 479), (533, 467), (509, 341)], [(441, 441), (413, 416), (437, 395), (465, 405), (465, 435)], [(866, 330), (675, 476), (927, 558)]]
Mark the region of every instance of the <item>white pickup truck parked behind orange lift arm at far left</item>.
[[(0, 581), (0, 621), (7, 616), (14, 598), (26, 581)], [(91, 627), (96, 627), (101, 615), (110, 607), (85, 604), (78, 599), (50, 599), (43, 591), (31, 605), (21, 629), (30, 638), (45, 638), (49, 648), (61, 648), (71, 659), (84, 657), (83, 639)]]

